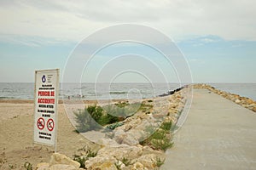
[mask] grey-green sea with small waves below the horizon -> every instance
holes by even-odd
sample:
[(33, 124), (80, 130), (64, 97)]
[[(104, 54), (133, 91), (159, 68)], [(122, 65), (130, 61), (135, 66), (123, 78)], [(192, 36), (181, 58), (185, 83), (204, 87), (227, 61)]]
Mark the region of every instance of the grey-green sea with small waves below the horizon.
[[(208, 83), (256, 100), (256, 83)], [(184, 85), (184, 84), (183, 84)], [(146, 99), (183, 86), (179, 83), (61, 83), (60, 99)], [(0, 99), (34, 99), (32, 82), (0, 82)]]

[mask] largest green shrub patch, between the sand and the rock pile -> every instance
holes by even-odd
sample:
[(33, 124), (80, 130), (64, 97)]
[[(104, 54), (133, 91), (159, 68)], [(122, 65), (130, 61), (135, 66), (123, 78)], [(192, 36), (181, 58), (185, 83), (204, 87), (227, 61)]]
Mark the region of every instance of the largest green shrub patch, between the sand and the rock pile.
[(108, 125), (108, 129), (113, 130), (122, 126), (121, 121), (134, 115), (137, 111), (149, 111), (150, 113), (152, 108), (153, 105), (146, 105), (145, 103), (129, 104), (127, 101), (103, 107), (90, 105), (84, 110), (74, 112), (75, 121), (77, 122), (76, 131), (84, 133), (90, 130), (99, 130), (106, 125)]

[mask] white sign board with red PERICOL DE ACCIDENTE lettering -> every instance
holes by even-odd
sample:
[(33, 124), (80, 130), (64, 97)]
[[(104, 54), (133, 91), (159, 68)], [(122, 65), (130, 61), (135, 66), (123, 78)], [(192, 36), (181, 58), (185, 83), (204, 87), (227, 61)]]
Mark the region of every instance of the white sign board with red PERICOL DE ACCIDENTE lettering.
[(35, 71), (34, 142), (55, 145), (59, 69)]

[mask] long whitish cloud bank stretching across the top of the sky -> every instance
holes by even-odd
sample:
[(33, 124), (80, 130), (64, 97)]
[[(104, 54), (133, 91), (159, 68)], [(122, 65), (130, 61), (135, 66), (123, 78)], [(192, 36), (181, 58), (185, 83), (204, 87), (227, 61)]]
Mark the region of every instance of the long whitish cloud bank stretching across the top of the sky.
[(106, 26), (136, 23), (152, 26), (176, 40), (194, 35), (256, 40), (255, 6), (253, 0), (3, 0), (0, 33), (77, 42)]

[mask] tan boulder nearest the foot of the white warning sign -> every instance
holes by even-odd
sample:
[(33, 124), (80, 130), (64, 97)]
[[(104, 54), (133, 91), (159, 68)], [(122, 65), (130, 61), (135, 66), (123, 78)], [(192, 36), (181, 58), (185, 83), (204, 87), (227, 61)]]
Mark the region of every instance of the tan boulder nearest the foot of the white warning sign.
[(62, 155), (62, 154), (59, 154), (59, 153), (54, 153), (50, 157), (49, 167), (51, 167), (55, 164), (71, 165), (71, 166), (73, 166), (77, 169), (80, 167), (80, 163), (78, 161), (73, 161), (69, 157), (67, 157), (65, 155)]

